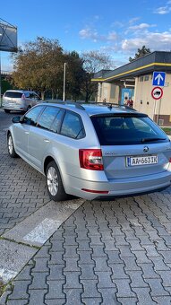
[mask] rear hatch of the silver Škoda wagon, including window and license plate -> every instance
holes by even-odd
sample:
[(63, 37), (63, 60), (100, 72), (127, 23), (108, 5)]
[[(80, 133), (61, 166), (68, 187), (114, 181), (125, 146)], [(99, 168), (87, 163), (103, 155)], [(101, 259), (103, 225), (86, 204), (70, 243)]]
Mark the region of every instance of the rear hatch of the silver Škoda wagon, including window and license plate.
[(107, 179), (135, 178), (166, 171), (171, 157), (167, 135), (139, 113), (92, 116)]

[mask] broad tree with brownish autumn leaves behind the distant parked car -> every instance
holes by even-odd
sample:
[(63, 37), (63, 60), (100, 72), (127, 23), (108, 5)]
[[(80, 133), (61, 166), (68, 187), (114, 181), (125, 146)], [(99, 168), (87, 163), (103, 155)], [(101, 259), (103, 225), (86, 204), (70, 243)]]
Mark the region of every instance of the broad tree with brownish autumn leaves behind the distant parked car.
[(38, 37), (14, 56), (13, 83), (23, 89), (57, 92), (63, 66), (63, 48), (58, 40)]

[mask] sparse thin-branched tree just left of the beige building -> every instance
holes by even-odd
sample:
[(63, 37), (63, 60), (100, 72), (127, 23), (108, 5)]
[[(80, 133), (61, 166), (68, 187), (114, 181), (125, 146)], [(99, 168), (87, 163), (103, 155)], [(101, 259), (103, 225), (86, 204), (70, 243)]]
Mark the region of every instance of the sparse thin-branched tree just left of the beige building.
[(82, 82), (82, 91), (85, 92), (85, 101), (90, 100), (93, 93), (98, 91), (98, 83), (92, 83), (93, 75), (99, 70), (109, 70), (113, 63), (111, 58), (98, 51), (84, 52), (82, 54), (84, 67), (84, 78)]

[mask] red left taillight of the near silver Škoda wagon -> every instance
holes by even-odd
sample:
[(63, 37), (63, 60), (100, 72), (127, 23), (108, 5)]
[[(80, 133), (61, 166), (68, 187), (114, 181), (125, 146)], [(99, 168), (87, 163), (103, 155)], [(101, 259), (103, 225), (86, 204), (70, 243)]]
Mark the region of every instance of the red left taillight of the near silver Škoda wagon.
[(82, 169), (104, 170), (100, 149), (80, 149), (79, 157)]

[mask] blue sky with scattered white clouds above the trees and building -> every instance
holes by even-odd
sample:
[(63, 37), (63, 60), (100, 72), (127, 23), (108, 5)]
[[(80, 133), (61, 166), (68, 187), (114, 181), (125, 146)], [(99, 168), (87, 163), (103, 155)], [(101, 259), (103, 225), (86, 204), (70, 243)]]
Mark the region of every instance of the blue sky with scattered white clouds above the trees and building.
[[(171, 50), (171, 0), (1, 0), (0, 18), (18, 28), (18, 46), (37, 36), (58, 39), (66, 51), (98, 50), (115, 66), (138, 48)], [(1, 52), (2, 70), (12, 69)]]

